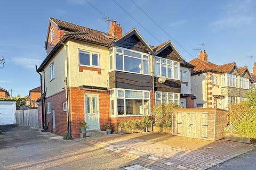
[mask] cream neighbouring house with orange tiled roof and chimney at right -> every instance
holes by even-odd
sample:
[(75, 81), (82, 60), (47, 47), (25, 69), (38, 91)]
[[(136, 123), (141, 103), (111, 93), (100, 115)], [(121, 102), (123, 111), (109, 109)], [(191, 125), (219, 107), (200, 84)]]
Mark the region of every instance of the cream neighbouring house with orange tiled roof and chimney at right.
[(205, 50), (189, 63), (195, 66), (191, 71), (192, 94), (197, 97), (195, 107), (226, 109), (227, 104), (246, 99), (252, 79), (247, 66), (211, 63)]

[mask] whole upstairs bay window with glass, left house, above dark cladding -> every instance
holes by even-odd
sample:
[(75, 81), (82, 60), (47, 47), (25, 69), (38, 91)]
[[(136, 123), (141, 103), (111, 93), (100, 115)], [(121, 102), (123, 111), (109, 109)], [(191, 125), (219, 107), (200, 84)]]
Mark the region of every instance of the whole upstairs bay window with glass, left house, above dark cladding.
[(109, 68), (137, 74), (149, 75), (149, 54), (114, 47), (109, 50)]

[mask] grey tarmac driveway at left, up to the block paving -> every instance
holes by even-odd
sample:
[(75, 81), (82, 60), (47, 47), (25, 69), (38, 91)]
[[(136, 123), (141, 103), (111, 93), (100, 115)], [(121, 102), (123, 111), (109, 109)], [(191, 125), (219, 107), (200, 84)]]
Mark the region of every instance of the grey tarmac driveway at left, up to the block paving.
[(122, 169), (135, 164), (78, 140), (25, 126), (4, 128), (0, 135), (0, 169)]

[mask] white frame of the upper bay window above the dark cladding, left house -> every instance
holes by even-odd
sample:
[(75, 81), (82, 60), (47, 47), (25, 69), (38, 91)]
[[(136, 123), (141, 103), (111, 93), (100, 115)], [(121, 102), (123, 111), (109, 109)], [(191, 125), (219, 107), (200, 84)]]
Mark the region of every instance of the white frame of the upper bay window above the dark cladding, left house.
[[(149, 54), (147, 53), (142, 53), (142, 52), (138, 52), (136, 50), (132, 50), (132, 49), (127, 49), (127, 48), (123, 48), (123, 47), (113, 47), (113, 48), (110, 48), (110, 49), (113, 49), (113, 53), (109, 53), (109, 60), (110, 60), (110, 55), (112, 55), (112, 62), (113, 62), (113, 69), (111, 69), (110, 71), (113, 71), (113, 70), (116, 70), (116, 71), (122, 71), (122, 72), (127, 72), (127, 73), (133, 73), (133, 74), (142, 74), (142, 75), (150, 75), (150, 56)], [(109, 49), (109, 50), (110, 50)], [(117, 50), (120, 49), (122, 50), (122, 53), (119, 53), (117, 52)], [(138, 57), (134, 57), (134, 56), (131, 56), (131, 55), (125, 55), (124, 54), (124, 50), (127, 50), (129, 52), (133, 52), (133, 53), (138, 53), (138, 54), (141, 54), (141, 58), (138, 58)], [(117, 69), (117, 66), (116, 66), (116, 55), (121, 55), (122, 56), (122, 62), (123, 62), (123, 70), (120, 70), (120, 69)], [(135, 58), (135, 59), (138, 59), (138, 60), (141, 60), (141, 67), (140, 67), (140, 73), (138, 72), (132, 72), (132, 71), (126, 71), (125, 70), (125, 62), (124, 62), (124, 57), (130, 57), (130, 58)], [(147, 56), (147, 58), (144, 58), (143, 56)], [(143, 61), (147, 61), (148, 62), (148, 73), (143, 73), (144, 72), (144, 67), (143, 67)], [(109, 65), (109, 68), (110, 68), (110, 65)]]

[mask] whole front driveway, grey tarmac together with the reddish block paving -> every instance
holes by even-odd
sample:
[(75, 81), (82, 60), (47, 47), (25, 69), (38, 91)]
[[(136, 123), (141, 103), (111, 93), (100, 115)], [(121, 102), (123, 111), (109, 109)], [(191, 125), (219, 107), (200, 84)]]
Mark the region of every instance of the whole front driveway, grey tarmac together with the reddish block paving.
[(207, 169), (255, 148), (154, 132), (66, 141), (24, 126), (5, 131), (0, 169)]

